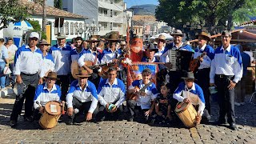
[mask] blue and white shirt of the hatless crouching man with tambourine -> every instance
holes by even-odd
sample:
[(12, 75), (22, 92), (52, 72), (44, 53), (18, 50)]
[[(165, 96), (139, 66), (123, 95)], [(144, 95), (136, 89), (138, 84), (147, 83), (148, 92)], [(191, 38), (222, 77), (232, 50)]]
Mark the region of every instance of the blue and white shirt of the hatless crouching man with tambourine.
[(126, 86), (118, 78), (114, 79), (112, 85), (110, 85), (109, 79), (103, 79), (98, 85), (98, 101), (102, 106), (106, 106), (107, 103), (116, 102), (116, 106), (121, 106), (122, 102), (126, 100)]

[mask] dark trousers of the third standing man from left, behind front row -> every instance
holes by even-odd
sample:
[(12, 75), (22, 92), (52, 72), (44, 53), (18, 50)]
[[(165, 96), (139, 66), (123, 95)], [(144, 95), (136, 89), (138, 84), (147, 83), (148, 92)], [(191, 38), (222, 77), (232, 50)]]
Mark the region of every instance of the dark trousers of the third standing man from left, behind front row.
[(59, 80), (56, 84), (62, 88), (61, 100), (66, 102), (66, 94), (70, 86), (70, 75), (58, 75), (57, 78), (59, 78)]

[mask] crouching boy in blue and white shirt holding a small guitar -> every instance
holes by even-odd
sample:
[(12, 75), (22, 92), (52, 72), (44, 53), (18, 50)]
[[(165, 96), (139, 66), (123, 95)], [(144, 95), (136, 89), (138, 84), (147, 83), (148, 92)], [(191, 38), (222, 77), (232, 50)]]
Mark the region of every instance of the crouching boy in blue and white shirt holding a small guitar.
[(158, 95), (158, 90), (154, 83), (150, 82), (150, 78), (151, 70), (146, 68), (142, 71), (142, 80), (134, 81), (128, 88), (128, 94), (136, 95), (134, 100), (130, 99), (127, 101), (127, 106), (130, 110), (129, 121), (134, 120), (134, 110), (136, 109), (143, 115), (144, 119), (142, 121), (149, 122), (149, 116), (154, 110), (154, 98)]

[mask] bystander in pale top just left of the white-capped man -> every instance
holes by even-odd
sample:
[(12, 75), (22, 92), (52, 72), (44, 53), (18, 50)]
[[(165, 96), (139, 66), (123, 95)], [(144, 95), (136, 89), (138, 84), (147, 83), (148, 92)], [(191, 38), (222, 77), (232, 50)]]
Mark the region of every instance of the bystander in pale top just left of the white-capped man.
[(13, 38), (7, 38), (6, 42), (6, 48), (8, 51), (8, 56), (9, 56), (9, 68), (11, 70), (11, 74), (6, 75), (6, 86), (14, 86), (15, 84), (15, 75), (13, 73), (14, 71), (14, 57), (15, 57), (15, 52), (18, 50), (18, 47), (14, 45), (14, 39)]

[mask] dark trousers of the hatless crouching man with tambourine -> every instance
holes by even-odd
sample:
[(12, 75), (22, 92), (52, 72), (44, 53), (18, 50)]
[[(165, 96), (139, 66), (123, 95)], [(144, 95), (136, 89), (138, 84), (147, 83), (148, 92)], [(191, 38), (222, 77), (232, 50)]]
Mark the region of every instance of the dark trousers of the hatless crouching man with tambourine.
[[(115, 102), (113, 102), (115, 103)], [(98, 114), (96, 116), (97, 120), (101, 120), (102, 118), (106, 118), (107, 120), (118, 120), (118, 118), (121, 117), (123, 113), (123, 107), (122, 105), (118, 107), (118, 110), (116, 110), (114, 113), (109, 113), (106, 111), (106, 107), (102, 106), (101, 104), (98, 104)]]

